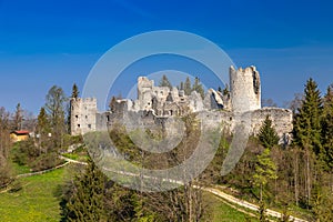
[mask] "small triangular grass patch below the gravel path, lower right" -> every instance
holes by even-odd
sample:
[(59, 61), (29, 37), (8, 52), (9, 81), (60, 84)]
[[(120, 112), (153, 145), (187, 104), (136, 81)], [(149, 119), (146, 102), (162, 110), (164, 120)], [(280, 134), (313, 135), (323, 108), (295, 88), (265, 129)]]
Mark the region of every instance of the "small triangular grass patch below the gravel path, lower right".
[(204, 193), (204, 199), (208, 204), (211, 204), (209, 209), (209, 221), (212, 222), (242, 222), (251, 219), (251, 221), (258, 221), (258, 219), (252, 218), (243, 212), (235, 210), (234, 208), (226, 204), (220, 198), (211, 194)]

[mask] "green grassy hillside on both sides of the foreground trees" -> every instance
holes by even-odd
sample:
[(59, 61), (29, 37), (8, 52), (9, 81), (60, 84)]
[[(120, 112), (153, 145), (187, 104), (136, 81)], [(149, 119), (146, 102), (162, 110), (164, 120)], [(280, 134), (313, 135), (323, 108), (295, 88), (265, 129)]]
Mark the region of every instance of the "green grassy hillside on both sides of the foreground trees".
[[(21, 178), (22, 189), (20, 191), (0, 193), (0, 221), (60, 221), (60, 186), (72, 174), (73, 170), (69, 165), (41, 175)], [(206, 194), (206, 200), (211, 204), (210, 220), (216, 222), (245, 221), (244, 213), (236, 211), (212, 194)]]

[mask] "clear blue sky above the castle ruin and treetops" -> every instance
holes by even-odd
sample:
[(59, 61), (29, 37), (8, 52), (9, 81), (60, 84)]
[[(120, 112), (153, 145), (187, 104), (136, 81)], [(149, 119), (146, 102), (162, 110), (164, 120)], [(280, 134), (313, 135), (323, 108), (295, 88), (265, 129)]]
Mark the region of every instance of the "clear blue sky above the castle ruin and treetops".
[(0, 107), (37, 113), (53, 85), (82, 89), (98, 59), (132, 36), (182, 30), (261, 72), (262, 97), (280, 105), (312, 77), (333, 82), (331, 1), (0, 0)]

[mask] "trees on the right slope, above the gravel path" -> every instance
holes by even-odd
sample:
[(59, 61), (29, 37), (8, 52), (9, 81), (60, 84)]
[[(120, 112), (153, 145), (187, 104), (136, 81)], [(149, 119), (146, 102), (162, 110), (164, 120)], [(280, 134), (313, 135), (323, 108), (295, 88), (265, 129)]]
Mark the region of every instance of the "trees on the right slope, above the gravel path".
[(304, 209), (311, 221), (333, 221), (333, 85), (321, 97), (310, 79), (296, 99), (292, 144), (266, 145), (261, 131), (221, 183), (270, 206)]

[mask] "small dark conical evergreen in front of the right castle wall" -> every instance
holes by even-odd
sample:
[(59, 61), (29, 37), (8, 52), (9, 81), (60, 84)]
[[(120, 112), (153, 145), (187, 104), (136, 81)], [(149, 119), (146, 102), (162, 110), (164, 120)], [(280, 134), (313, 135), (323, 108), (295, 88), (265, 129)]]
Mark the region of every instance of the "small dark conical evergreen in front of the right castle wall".
[(258, 138), (264, 148), (271, 149), (279, 143), (279, 135), (272, 127), (270, 115), (266, 115), (266, 119), (263, 121), (263, 124), (259, 130)]

